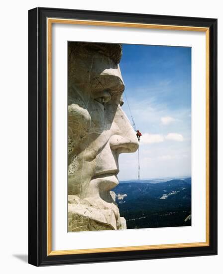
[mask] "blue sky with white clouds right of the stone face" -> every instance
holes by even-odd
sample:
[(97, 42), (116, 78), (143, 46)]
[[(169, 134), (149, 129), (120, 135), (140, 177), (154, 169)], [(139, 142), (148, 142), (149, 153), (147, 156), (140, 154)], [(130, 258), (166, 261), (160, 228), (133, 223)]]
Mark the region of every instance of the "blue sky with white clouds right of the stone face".
[[(191, 48), (123, 44), (120, 69), (142, 133), (141, 179), (191, 175)], [(119, 180), (137, 178), (137, 153), (120, 154)]]

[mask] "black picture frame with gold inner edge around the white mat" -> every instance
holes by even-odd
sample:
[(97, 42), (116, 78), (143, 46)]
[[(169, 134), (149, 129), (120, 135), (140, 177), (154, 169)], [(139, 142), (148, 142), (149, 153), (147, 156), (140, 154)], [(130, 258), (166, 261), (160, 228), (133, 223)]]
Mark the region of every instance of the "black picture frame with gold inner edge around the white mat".
[[(52, 251), (53, 23), (206, 32), (206, 242)], [(35, 266), (217, 254), (217, 19), (55, 8), (29, 10), (29, 263)]]

